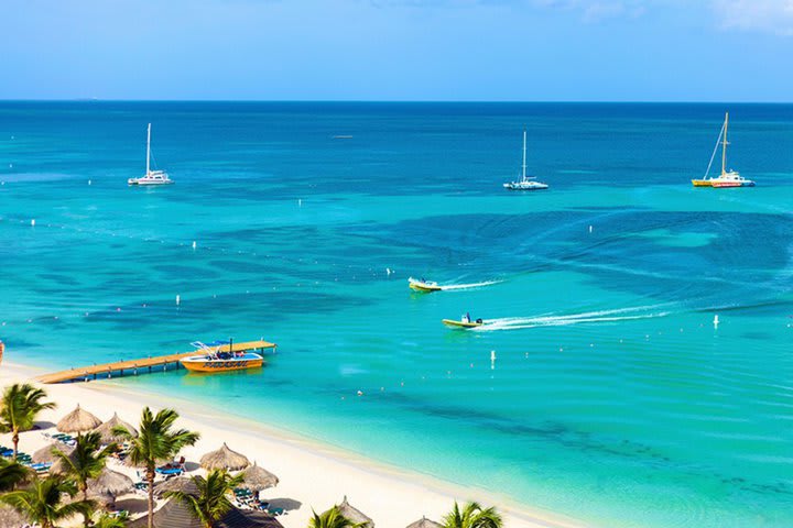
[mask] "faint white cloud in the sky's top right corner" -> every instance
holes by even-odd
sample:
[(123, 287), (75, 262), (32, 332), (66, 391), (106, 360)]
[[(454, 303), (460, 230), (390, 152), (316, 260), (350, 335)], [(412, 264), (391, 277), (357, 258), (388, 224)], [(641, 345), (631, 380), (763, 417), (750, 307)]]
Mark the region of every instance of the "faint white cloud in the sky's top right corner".
[(793, 35), (793, 0), (714, 0), (725, 29)]

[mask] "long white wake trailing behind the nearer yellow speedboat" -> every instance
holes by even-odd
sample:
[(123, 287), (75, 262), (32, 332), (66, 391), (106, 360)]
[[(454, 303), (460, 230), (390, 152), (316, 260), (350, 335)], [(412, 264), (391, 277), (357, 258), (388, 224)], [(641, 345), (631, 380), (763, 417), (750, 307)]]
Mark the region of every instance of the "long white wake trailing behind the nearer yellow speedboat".
[(670, 311), (650, 311), (658, 308), (660, 308), (660, 306), (642, 306), (615, 310), (586, 311), (583, 314), (571, 314), (565, 316), (547, 315), (536, 317), (504, 317), (500, 319), (485, 319), (485, 324), (476, 328), (475, 330), (479, 332), (491, 332), (497, 330), (520, 330), (537, 327), (564, 327), (567, 324), (650, 319), (670, 315)]

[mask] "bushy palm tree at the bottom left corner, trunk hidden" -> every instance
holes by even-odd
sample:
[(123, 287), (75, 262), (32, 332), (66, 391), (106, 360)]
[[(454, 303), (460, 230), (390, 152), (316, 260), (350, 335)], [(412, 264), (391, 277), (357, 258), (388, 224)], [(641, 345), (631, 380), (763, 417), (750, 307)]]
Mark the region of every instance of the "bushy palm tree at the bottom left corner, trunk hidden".
[(29, 521), (41, 525), (42, 528), (54, 528), (55, 522), (94, 509), (93, 501), (63, 503), (64, 494), (74, 497), (76, 493), (77, 486), (74, 482), (61, 476), (47, 476), (35, 479), (29, 488), (0, 495), (0, 502), (8, 504)]

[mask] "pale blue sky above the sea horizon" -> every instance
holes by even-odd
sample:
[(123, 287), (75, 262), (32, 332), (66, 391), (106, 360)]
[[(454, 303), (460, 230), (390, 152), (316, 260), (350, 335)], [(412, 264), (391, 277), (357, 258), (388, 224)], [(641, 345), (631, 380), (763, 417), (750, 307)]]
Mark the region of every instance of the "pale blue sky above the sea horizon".
[(793, 0), (0, 0), (0, 99), (793, 101)]

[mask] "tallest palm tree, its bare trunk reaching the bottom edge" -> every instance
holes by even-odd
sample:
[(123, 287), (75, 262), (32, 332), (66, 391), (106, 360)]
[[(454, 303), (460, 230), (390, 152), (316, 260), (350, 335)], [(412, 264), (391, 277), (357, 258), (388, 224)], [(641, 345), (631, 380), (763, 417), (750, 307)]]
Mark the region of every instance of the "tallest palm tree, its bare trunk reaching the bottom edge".
[(138, 437), (133, 437), (123, 427), (113, 429), (113, 435), (130, 442), (130, 462), (145, 469), (149, 483), (149, 528), (154, 526), (154, 475), (157, 462), (173, 459), (182, 448), (193, 446), (199, 438), (197, 432), (186, 429), (172, 430), (177, 418), (178, 413), (173, 409), (163, 409), (154, 416), (146, 407), (141, 416)]

